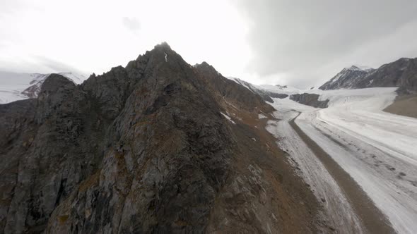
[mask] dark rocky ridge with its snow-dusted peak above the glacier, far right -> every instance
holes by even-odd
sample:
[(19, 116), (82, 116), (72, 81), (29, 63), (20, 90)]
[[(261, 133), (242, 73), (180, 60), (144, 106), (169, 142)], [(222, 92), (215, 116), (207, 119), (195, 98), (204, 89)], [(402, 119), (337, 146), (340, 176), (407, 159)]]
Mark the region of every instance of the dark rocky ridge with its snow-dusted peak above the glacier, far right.
[(400, 58), (377, 69), (355, 66), (319, 87), (320, 90), (363, 89), (367, 87), (399, 87), (399, 94), (417, 93), (417, 58)]

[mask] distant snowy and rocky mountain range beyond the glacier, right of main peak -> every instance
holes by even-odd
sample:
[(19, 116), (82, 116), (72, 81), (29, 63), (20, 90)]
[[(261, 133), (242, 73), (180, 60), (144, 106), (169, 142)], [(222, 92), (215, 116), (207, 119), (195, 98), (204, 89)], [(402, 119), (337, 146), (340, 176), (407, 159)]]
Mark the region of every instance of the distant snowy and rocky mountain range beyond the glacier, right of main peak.
[[(274, 102), (274, 98), (289, 97), (293, 101), (308, 106), (326, 108), (328, 100), (319, 100), (314, 88), (298, 90), (287, 85), (253, 85), (239, 78), (229, 78), (248, 90), (259, 94), (264, 101)], [(319, 90), (354, 90), (370, 87), (399, 87), (397, 93), (401, 95), (417, 93), (417, 58), (400, 58), (387, 63), (380, 68), (365, 66), (351, 66), (343, 68)]]

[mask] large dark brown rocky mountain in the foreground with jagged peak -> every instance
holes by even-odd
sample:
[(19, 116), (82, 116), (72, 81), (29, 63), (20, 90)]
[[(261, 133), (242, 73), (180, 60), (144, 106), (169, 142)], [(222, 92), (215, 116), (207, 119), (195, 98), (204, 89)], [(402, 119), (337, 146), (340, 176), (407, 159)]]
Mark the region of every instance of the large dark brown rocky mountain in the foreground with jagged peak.
[[(168, 44), (0, 105), (3, 233), (315, 233), (259, 95)], [(303, 201), (303, 202), (300, 202)]]

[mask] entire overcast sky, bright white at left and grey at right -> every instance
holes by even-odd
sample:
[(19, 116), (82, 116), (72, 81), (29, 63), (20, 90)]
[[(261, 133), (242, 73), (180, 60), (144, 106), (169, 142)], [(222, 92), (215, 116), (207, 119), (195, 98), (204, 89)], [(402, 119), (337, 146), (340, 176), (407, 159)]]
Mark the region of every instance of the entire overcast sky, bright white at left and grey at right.
[(0, 0), (0, 70), (101, 74), (168, 42), (255, 84), (417, 57), (415, 0)]

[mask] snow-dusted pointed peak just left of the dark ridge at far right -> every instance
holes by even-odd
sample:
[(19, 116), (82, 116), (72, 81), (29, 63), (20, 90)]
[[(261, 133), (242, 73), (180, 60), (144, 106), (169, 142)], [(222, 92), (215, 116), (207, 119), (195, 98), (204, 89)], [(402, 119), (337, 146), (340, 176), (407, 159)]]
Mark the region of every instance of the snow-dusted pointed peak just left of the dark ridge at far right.
[(337, 73), (333, 78), (324, 83), (320, 90), (339, 90), (351, 89), (365, 76), (372, 73), (375, 69), (360, 66), (351, 66), (350, 68), (343, 68), (340, 73)]

